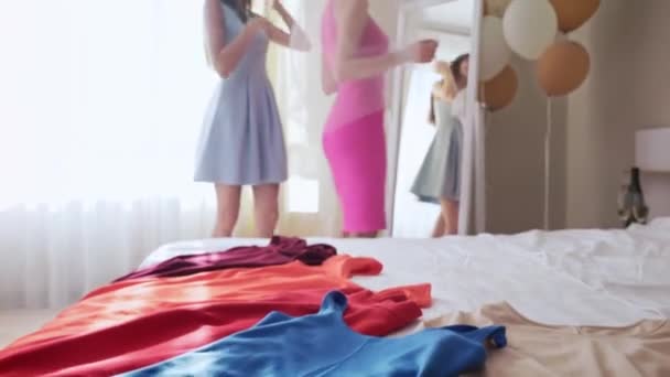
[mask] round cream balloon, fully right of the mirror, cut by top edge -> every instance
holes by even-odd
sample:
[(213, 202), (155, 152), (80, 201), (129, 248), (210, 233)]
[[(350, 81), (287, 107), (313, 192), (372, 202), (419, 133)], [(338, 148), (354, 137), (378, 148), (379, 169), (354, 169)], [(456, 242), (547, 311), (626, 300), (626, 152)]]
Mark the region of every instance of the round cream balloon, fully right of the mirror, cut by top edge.
[(514, 0), (502, 19), (507, 44), (530, 61), (554, 41), (558, 29), (556, 12), (548, 0)]

